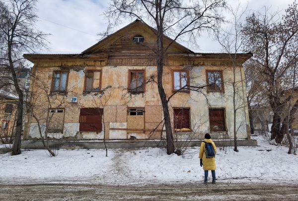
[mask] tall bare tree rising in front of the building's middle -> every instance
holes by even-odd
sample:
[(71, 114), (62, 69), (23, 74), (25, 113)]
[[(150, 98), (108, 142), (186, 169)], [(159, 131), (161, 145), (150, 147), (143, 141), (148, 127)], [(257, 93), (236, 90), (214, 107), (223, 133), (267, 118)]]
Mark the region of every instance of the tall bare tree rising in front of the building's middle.
[[(166, 130), (167, 154), (174, 152), (173, 132), (170, 120), (168, 100), (162, 84), (165, 56), (174, 41), (183, 35), (195, 39), (202, 30), (212, 30), (223, 20), (219, 10), (225, 6), (224, 0), (111, 0), (105, 12), (109, 29), (118, 25), (122, 19), (140, 19), (156, 29), (156, 48), (152, 50), (156, 58), (157, 87), (162, 104), (164, 125)], [(164, 35), (172, 37), (172, 42), (164, 47)]]

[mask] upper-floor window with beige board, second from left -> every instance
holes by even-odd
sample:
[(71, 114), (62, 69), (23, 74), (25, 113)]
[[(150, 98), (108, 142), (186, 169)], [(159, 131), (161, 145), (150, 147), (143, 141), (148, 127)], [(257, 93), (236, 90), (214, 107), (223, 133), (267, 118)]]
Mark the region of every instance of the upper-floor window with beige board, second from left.
[(101, 71), (88, 70), (85, 79), (85, 91), (100, 91)]

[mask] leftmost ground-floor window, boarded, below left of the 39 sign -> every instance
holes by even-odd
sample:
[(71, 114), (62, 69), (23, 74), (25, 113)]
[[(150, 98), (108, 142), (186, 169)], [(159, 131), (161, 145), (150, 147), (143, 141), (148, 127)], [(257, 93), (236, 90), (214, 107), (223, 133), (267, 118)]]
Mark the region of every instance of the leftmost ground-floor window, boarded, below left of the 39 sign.
[(51, 133), (63, 132), (64, 126), (64, 109), (49, 109), (48, 131)]

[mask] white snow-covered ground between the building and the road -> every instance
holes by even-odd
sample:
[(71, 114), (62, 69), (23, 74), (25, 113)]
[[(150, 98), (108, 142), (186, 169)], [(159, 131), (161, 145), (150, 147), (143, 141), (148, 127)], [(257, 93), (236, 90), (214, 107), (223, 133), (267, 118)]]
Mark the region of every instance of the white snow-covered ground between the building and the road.
[[(256, 139), (259, 146), (238, 147), (239, 152), (218, 148), (217, 182), (298, 184), (298, 156), (287, 154), (286, 147)], [(101, 149), (61, 149), (56, 157), (45, 150), (22, 150), (17, 156), (0, 154), (0, 184), (202, 182), (199, 147), (189, 150), (193, 157), (167, 155), (159, 148), (109, 149), (108, 157)]]

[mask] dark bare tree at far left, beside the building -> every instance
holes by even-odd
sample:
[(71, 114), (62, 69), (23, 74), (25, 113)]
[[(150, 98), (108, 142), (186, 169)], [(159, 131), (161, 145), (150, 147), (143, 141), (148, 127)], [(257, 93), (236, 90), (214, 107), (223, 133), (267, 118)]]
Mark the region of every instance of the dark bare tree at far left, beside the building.
[(17, 82), (15, 67), (24, 66), (23, 52), (34, 53), (45, 47), (46, 34), (37, 30), (35, 14), (37, 0), (0, 1), (0, 67), (11, 74), (13, 87), (18, 95), (16, 127), (12, 155), (21, 153), (21, 132), (24, 94)]

